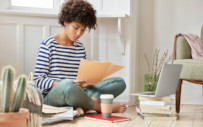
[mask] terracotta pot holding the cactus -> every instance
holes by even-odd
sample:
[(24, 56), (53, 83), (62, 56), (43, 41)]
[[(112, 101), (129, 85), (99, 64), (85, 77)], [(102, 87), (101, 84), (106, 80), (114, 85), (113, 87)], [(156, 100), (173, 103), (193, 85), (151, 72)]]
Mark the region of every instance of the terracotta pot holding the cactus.
[(0, 127), (25, 127), (29, 110), (21, 108), (19, 112), (0, 113)]

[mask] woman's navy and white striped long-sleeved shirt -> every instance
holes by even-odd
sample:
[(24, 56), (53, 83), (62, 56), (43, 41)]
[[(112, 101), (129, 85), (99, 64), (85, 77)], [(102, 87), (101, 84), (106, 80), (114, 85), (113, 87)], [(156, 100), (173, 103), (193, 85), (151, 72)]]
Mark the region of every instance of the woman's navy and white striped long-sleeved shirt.
[(52, 36), (46, 38), (40, 45), (35, 65), (37, 87), (48, 90), (54, 81), (76, 79), (80, 60), (85, 58), (85, 47), (79, 41), (73, 46), (63, 46)]

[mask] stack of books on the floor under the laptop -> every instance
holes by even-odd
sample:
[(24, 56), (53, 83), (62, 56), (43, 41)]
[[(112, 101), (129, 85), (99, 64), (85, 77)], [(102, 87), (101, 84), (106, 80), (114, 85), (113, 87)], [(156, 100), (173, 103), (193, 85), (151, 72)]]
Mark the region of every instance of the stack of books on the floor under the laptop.
[(145, 120), (176, 120), (177, 117), (171, 108), (171, 97), (138, 96), (138, 115)]

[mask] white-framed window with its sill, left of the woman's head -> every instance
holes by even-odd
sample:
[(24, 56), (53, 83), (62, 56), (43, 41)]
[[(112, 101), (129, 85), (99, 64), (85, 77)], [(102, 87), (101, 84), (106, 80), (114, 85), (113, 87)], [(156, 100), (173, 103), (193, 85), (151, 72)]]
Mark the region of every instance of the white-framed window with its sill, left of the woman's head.
[(0, 14), (56, 17), (65, 0), (0, 0)]

